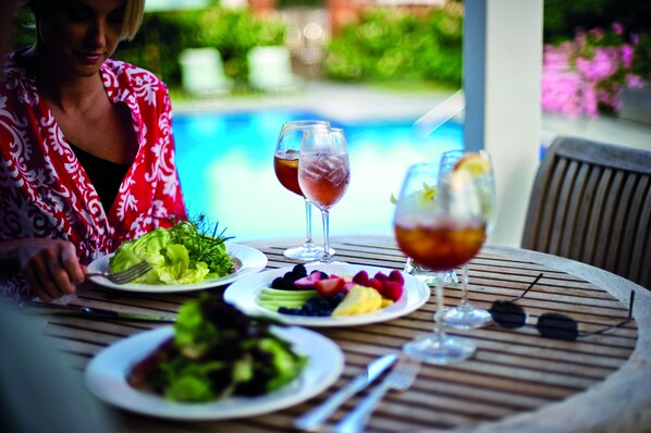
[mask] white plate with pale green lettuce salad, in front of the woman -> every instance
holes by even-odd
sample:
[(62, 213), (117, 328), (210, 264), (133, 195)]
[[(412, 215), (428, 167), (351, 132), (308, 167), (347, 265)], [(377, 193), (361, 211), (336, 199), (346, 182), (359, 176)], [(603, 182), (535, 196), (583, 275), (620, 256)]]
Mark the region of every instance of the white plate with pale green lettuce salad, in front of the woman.
[(171, 228), (156, 228), (124, 242), (114, 253), (88, 264), (89, 272), (120, 272), (140, 261), (152, 270), (127, 284), (115, 284), (103, 276), (91, 276), (96, 284), (126, 292), (175, 293), (230, 284), (265, 269), (261, 251), (206, 234), (191, 221)]

